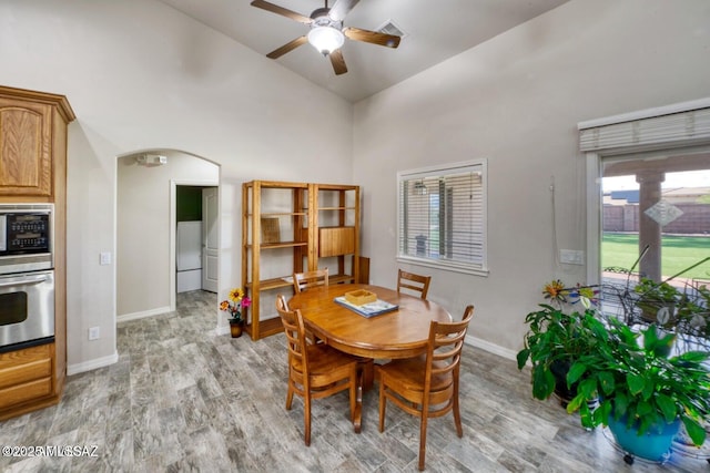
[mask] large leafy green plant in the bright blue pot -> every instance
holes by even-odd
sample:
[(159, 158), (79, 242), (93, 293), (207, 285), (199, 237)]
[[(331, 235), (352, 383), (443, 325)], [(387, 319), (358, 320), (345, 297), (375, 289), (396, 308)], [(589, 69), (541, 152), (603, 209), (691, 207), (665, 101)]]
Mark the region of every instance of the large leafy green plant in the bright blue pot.
[[(608, 332), (571, 366), (567, 382), (579, 384), (567, 411), (579, 411), (585, 428), (608, 425), (626, 452), (651, 461), (667, 459), (681, 423), (701, 445), (702, 423), (710, 418), (710, 373), (703, 364), (710, 353), (670, 357), (676, 333), (656, 325), (635, 332), (612, 319)], [(599, 405), (592, 410), (587, 401), (594, 398)]]

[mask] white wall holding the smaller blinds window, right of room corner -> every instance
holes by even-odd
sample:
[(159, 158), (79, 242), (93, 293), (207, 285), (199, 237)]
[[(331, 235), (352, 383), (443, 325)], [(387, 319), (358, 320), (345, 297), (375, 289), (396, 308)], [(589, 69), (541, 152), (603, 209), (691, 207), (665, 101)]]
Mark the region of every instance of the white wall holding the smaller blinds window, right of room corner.
[[(488, 160), (488, 277), (432, 274), (430, 298), (471, 335), (514, 354), (545, 281), (584, 282), (554, 257), (586, 249), (584, 157), (576, 125), (710, 96), (710, 2), (574, 0), (355, 106), (355, 183), (364, 187), (363, 255), (375, 284), (396, 278), (400, 169)], [(376, 169), (376, 172), (374, 172)]]

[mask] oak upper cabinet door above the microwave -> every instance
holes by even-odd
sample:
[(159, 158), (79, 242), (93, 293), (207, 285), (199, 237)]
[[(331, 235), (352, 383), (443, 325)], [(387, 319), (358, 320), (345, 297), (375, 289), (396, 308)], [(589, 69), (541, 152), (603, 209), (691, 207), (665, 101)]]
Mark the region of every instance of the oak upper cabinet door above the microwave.
[(0, 96), (0, 196), (52, 195), (52, 106)]

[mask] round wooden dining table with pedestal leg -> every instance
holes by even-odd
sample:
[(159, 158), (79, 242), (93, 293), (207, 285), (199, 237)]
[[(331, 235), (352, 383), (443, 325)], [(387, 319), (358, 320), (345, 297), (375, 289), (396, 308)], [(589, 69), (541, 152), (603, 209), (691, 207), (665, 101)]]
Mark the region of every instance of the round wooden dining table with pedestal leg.
[[(396, 310), (365, 317), (335, 301), (336, 297), (356, 290), (374, 292), (377, 299), (398, 306)], [(371, 285), (332, 285), (314, 287), (296, 294), (288, 301), (300, 309), (306, 329), (318, 339), (346, 353), (371, 359), (412, 358), (426, 351), (433, 320), (450, 322), (452, 316), (437, 305), (396, 290)], [(361, 370), (355, 432), (362, 425), (363, 389), (372, 385), (372, 362)]]

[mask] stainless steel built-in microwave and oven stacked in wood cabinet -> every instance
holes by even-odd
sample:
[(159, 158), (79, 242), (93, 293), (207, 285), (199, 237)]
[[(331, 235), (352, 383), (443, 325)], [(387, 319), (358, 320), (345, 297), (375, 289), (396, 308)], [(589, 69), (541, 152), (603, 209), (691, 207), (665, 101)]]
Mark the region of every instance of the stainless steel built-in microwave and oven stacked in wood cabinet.
[(0, 204), (0, 352), (54, 339), (53, 210)]

